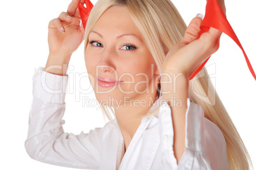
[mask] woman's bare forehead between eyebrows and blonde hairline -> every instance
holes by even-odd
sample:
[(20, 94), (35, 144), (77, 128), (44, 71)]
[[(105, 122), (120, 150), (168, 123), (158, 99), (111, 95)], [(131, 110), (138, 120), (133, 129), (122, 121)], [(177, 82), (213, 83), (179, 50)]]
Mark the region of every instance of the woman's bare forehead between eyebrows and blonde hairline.
[(111, 6), (97, 20), (92, 31), (107, 35), (135, 34), (142, 39), (138, 27), (134, 24), (129, 10), (125, 6)]

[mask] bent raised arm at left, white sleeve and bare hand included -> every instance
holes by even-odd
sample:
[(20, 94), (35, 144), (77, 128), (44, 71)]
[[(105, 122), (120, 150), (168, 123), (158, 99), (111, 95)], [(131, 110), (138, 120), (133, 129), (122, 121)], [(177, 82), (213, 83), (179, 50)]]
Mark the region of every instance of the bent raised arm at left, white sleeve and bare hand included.
[(79, 0), (69, 4), (48, 26), (49, 57), (46, 67), (35, 69), (33, 100), (25, 149), (32, 159), (58, 166), (98, 169), (103, 129), (88, 134), (65, 133), (62, 117), (66, 108), (66, 75), (70, 57), (83, 41), (83, 26), (77, 9)]

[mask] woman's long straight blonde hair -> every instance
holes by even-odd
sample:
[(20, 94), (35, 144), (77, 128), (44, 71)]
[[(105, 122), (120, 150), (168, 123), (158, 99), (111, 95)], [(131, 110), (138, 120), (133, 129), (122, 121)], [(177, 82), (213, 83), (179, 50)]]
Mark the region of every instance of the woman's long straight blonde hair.
[[(88, 36), (94, 24), (104, 11), (113, 5), (123, 5), (131, 13), (134, 23), (141, 32), (161, 73), (164, 58), (178, 43), (187, 29), (180, 13), (169, 0), (99, 0), (90, 12), (85, 28), (85, 49)], [(199, 95), (198, 95), (199, 94)], [(205, 67), (189, 81), (188, 95), (193, 103), (204, 108), (204, 117), (208, 118), (222, 131), (227, 144), (227, 155), (231, 169), (250, 169), (252, 161), (246, 147), (218, 97)], [(206, 97), (204, 97), (206, 96)], [(113, 108), (101, 106), (104, 115), (111, 120)], [(150, 113), (146, 116), (154, 114)], [(115, 115), (115, 114), (114, 114)]]

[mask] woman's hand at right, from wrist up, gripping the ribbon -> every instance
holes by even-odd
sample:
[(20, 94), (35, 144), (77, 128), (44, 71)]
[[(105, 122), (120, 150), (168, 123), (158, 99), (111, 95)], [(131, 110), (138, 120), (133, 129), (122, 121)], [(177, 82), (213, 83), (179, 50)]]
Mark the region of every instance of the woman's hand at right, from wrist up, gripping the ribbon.
[[(224, 0), (218, 0), (218, 3), (225, 13)], [(162, 66), (162, 73), (182, 73), (189, 79), (204, 60), (217, 52), (222, 32), (210, 27), (210, 30), (198, 39), (201, 17), (199, 15), (192, 19), (183, 39), (169, 50)]]

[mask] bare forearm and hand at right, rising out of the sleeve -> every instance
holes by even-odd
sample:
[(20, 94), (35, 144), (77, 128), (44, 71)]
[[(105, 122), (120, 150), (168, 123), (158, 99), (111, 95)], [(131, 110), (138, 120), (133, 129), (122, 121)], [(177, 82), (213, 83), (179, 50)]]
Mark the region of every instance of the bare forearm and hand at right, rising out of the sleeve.
[[(219, 3), (225, 12), (224, 1), (222, 0)], [(161, 74), (162, 92), (172, 91), (174, 88), (176, 90), (175, 93), (163, 93), (163, 99), (168, 101), (173, 96), (182, 102), (181, 107), (171, 106), (171, 103), (168, 103), (172, 111), (174, 129), (173, 148), (177, 162), (180, 161), (185, 151), (185, 113), (187, 110), (188, 80), (197, 67), (218, 50), (222, 34), (222, 32), (211, 27), (208, 32), (204, 32), (197, 39), (199, 37), (202, 17), (198, 15), (193, 18), (188, 25), (183, 39), (167, 53)], [(175, 87), (173, 83), (166, 83), (170, 77), (174, 80), (175, 76), (178, 77), (175, 81)]]

